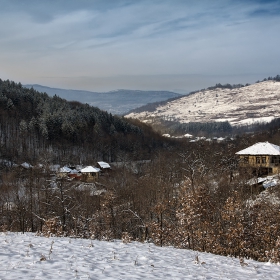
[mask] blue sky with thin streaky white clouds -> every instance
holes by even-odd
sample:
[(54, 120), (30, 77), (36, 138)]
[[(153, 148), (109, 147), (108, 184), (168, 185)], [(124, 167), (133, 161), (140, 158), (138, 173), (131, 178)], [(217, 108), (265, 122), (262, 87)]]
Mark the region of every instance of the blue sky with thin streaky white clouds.
[(0, 78), (170, 90), (280, 74), (280, 0), (0, 0)]

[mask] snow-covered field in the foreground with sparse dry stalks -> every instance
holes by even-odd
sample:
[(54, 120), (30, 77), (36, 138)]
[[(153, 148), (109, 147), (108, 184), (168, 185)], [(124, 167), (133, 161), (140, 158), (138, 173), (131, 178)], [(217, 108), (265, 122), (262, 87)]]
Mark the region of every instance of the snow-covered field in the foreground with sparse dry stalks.
[(0, 279), (280, 279), (280, 266), (153, 244), (0, 233)]

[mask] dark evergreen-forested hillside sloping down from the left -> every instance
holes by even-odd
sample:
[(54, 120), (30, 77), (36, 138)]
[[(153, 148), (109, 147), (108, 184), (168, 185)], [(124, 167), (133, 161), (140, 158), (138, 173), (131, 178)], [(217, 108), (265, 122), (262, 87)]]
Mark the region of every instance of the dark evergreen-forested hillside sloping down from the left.
[(145, 125), (9, 80), (0, 80), (0, 117), (1, 157), (13, 161), (85, 164), (116, 161), (122, 152), (142, 159), (161, 145)]

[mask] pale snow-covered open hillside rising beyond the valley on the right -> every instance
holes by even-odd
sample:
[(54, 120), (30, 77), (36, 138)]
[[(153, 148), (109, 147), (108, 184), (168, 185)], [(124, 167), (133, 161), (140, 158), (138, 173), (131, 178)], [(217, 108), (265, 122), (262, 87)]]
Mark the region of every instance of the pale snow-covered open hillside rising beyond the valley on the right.
[(126, 117), (145, 122), (159, 118), (181, 123), (229, 121), (241, 125), (280, 117), (279, 105), (280, 82), (265, 81), (236, 89), (202, 90), (159, 106), (154, 112), (131, 113)]

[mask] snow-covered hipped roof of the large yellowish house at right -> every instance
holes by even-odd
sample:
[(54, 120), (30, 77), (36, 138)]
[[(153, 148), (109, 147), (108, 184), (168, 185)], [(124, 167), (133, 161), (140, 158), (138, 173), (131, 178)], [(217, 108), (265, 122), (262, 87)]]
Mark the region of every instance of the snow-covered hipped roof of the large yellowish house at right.
[(236, 153), (237, 155), (280, 155), (280, 146), (269, 142), (259, 142)]

